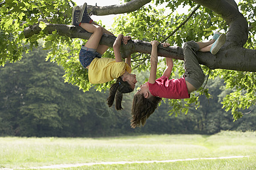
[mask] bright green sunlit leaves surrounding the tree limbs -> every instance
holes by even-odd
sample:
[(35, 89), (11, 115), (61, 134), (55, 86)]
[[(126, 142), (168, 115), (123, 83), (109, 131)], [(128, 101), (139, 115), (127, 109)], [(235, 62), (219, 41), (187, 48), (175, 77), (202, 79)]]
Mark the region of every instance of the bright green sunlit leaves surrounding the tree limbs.
[[(182, 46), (185, 41), (210, 39), (214, 30), (228, 31), (228, 27), (221, 16), (200, 6), (196, 13), (192, 15), (192, 18), (174, 32), (188, 18), (190, 12), (196, 7), (196, 3), (188, 0), (156, 0), (153, 3), (129, 14), (119, 15), (111, 31), (115, 35), (118, 33), (129, 34), (133, 36), (133, 39), (144, 41), (162, 41), (169, 35), (172, 35), (166, 41), (170, 42), (171, 45), (178, 46)], [(163, 9), (154, 7), (163, 4), (166, 5)], [(241, 1), (239, 5), (240, 11), (246, 17), (250, 26), (249, 39), (244, 47), (254, 49), (256, 31), (255, 2), (253, 0)], [(29, 48), (27, 45), (32, 49), (34, 46), (38, 46), (39, 40), (43, 40), (44, 50), (51, 49), (46, 59), (56, 62), (63, 67), (65, 70), (65, 82), (72, 83), (83, 91), (88, 91), (92, 84), (89, 83), (88, 72), (81, 67), (78, 59), (80, 45), (86, 41), (60, 36), (57, 32), (48, 34), (44, 30), (46, 27), (45, 22), (71, 24), (73, 6), (75, 6), (75, 3), (72, 1), (2, 1), (0, 3), (0, 40), (2, 42), (0, 45), (0, 65), (5, 66), (9, 62), (20, 61), (22, 54), (28, 53)], [(184, 14), (178, 14), (176, 10), (179, 6), (187, 8), (188, 11)], [(31, 36), (30, 39), (24, 39), (24, 28), (35, 23), (40, 23), (42, 31), (38, 35)], [(113, 50), (109, 49), (104, 54), (104, 57), (113, 57)], [(149, 69), (150, 56), (148, 54), (133, 54), (132, 58), (132, 67), (138, 73)], [(164, 59), (160, 58), (159, 62), (164, 63)], [(174, 64), (175, 74), (172, 74), (172, 77), (180, 77), (183, 74), (183, 62), (174, 61)], [(164, 64), (160, 65), (157, 76), (160, 76), (163, 70)], [(226, 94), (222, 104), (226, 111), (232, 111), (234, 120), (243, 116), (242, 109), (255, 105), (254, 73), (229, 70), (213, 70), (208, 72), (209, 69), (205, 66), (203, 66), (203, 70), (205, 73), (209, 73), (207, 75), (209, 79), (214, 79), (220, 75), (225, 81), (226, 89), (232, 90)], [(93, 87), (98, 91), (102, 91), (106, 90), (112, 83), (97, 84)], [(202, 94), (210, 97), (207, 88), (201, 88), (198, 94), (192, 94), (191, 99), (170, 100), (170, 105), (173, 107), (170, 113), (175, 113), (177, 116), (180, 111), (187, 113), (188, 108), (191, 106), (200, 107), (198, 96)], [(52, 105), (52, 109), (49, 112), (54, 112), (56, 109), (57, 107)], [(55, 118), (55, 121), (57, 121), (58, 117)], [(59, 125), (56, 124), (56, 126)]]

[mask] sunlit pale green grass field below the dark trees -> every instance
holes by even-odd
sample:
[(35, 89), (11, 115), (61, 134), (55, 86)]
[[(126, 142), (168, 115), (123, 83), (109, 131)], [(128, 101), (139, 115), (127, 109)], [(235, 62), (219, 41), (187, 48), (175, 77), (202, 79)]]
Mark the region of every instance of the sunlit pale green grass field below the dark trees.
[(256, 132), (109, 138), (0, 137), (0, 169), (56, 164), (200, 159), (171, 163), (90, 165), (61, 169), (256, 169)]

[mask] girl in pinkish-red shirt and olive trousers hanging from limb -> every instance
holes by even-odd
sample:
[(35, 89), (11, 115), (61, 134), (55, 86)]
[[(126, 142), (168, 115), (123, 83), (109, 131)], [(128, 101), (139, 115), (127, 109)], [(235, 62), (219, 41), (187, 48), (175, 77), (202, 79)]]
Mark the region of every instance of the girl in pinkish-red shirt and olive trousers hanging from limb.
[[(163, 75), (156, 79), (156, 69), (158, 65), (158, 41), (151, 41), (152, 50), (150, 58), (150, 77), (148, 82), (141, 85), (133, 98), (131, 109), (131, 127), (144, 125), (147, 118), (157, 108), (162, 97), (167, 99), (186, 99), (190, 93), (197, 90), (204, 83), (204, 72), (199, 65), (196, 52), (210, 52), (216, 54), (221, 46), (225, 44), (226, 36), (214, 33), (213, 39), (208, 42), (185, 42), (183, 46), (184, 69), (185, 73), (182, 78), (169, 79), (174, 63), (172, 58), (166, 57), (166, 69)], [(164, 47), (170, 44), (164, 42)]]

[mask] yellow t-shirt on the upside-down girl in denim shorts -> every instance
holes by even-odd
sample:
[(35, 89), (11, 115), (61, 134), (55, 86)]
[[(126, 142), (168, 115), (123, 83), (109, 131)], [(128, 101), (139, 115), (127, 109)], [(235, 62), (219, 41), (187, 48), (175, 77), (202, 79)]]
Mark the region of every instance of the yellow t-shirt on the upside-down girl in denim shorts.
[(106, 83), (125, 73), (131, 67), (125, 62), (115, 62), (114, 58), (94, 58), (89, 66), (89, 81), (92, 84)]

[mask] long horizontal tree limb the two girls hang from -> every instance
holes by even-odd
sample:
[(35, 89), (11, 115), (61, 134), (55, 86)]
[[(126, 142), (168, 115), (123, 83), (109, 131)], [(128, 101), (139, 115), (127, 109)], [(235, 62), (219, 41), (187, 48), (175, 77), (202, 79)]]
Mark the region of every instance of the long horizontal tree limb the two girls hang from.
[[(92, 33), (86, 32), (81, 27), (64, 24), (47, 24), (48, 33), (57, 31), (61, 36), (67, 36), (71, 38), (89, 39)], [(24, 36), (26, 38), (31, 37), (34, 34), (39, 33), (41, 28), (39, 24), (27, 27), (24, 29)], [(100, 44), (113, 46), (116, 37), (104, 34), (100, 41)], [(126, 58), (129, 54), (139, 53), (151, 53), (150, 42), (142, 40), (130, 40), (127, 45), (121, 46), (122, 57)], [(170, 46), (169, 48), (163, 48), (162, 45), (158, 47), (158, 55), (163, 57), (170, 57), (175, 59), (184, 59), (182, 48), (179, 46)], [(229, 49), (221, 49), (216, 55), (211, 53), (197, 53), (199, 56), (199, 62), (208, 66), (210, 69), (228, 69), (238, 71), (253, 71), (256, 72), (256, 50), (243, 49), (241, 46), (234, 46)], [(234, 55), (240, 57), (234, 58)]]

